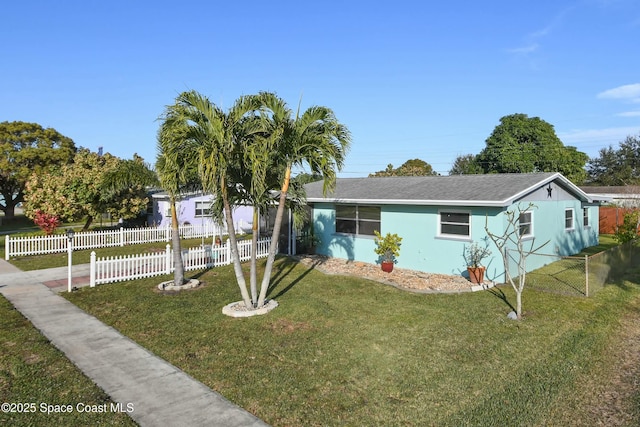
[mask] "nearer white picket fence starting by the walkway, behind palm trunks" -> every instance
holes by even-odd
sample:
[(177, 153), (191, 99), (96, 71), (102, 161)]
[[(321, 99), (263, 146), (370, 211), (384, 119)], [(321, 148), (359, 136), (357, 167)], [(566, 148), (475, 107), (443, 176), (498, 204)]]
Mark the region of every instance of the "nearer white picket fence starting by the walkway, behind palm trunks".
[[(257, 258), (265, 258), (269, 254), (271, 239), (258, 240)], [(251, 259), (251, 240), (238, 242), (240, 261)], [(205, 268), (228, 265), (231, 258), (229, 241), (220, 246), (204, 246), (182, 251), (184, 269), (201, 270)], [(91, 287), (104, 283), (122, 282), (145, 277), (171, 274), (174, 271), (173, 250), (167, 244), (164, 252), (141, 255), (123, 255), (97, 258), (91, 252), (90, 283)]]

